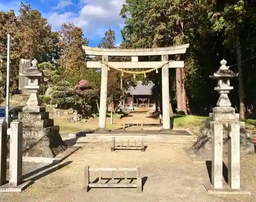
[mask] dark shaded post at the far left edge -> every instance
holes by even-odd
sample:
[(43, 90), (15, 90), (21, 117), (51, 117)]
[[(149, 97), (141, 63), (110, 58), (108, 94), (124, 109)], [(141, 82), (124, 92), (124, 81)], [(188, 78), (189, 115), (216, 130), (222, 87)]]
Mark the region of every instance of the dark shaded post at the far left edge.
[(6, 182), (7, 167), (7, 122), (0, 125), (0, 186)]

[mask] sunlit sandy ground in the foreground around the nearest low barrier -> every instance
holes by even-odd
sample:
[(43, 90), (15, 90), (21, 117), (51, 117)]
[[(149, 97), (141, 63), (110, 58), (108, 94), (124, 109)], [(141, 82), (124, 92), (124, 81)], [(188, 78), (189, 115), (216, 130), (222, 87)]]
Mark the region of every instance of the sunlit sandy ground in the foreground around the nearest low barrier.
[[(209, 195), (202, 185), (202, 182), (208, 180), (205, 163), (193, 165), (182, 149), (183, 146), (150, 144), (145, 152), (127, 150), (111, 152), (108, 144), (83, 144), (83, 148), (57, 167), (63, 164), (66, 166), (38, 179), (22, 193), (0, 194), (0, 201), (255, 201), (255, 155), (241, 160), (241, 182), (252, 192), (251, 196)], [(83, 190), (83, 168), (86, 165), (91, 167), (141, 165), (142, 176), (147, 177), (144, 190), (142, 193), (136, 193), (136, 189), (92, 189), (87, 193)], [(92, 179), (94, 180), (97, 175), (98, 173), (94, 174)]]

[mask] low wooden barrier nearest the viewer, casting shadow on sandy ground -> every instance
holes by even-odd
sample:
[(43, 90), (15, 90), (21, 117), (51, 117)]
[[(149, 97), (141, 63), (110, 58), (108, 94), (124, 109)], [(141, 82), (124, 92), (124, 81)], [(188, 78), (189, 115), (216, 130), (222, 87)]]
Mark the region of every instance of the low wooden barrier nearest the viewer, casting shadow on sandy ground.
[[(98, 182), (90, 182), (90, 172), (95, 171), (99, 173)], [(111, 172), (111, 178), (102, 178), (102, 171)], [(124, 172), (124, 178), (116, 178), (119, 179), (119, 182), (124, 179), (124, 183), (116, 183), (115, 182), (115, 172)], [(127, 177), (127, 172), (136, 172), (136, 176), (132, 178)], [(111, 179), (110, 182), (102, 182), (102, 179)], [(121, 181), (120, 181), (121, 179)], [(128, 179), (131, 179), (128, 182)], [(133, 179), (136, 179), (136, 184), (132, 183)], [(84, 168), (84, 184), (87, 192), (90, 188), (137, 188), (137, 192), (142, 192), (142, 177), (141, 177), (141, 166), (137, 166), (136, 168), (90, 168), (86, 166)]]

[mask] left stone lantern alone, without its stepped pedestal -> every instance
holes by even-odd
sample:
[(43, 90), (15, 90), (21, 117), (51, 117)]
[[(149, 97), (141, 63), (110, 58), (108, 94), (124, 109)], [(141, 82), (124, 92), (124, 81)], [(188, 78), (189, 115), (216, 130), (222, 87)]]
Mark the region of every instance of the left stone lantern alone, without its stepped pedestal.
[(41, 107), (41, 100), (38, 96), (40, 90), (40, 79), (44, 77), (42, 72), (37, 68), (37, 60), (32, 60), (32, 66), (26, 69), (24, 73), (19, 73), (19, 76), (24, 76), (28, 79), (28, 85), (24, 88), (29, 91), (29, 99), (27, 101), (27, 106), (23, 107), (23, 111), (39, 112), (45, 109)]

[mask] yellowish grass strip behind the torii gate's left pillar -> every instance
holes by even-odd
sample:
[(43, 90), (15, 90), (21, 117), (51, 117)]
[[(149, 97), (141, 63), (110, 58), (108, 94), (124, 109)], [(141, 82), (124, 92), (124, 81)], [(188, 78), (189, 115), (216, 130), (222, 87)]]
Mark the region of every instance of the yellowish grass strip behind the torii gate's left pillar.
[[(92, 124), (92, 123), (70, 123), (68, 120), (61, 120), (61, 119), (54, 119), (54, 125), (59, 126), (59, 133), (69, 133), (69, 132), (75, 132), (79, 130), (86, 130), (86, 129), (97, 129), (98, 128), (98, 123), (97, 124)], [(108, 129), (115, 129), (115, 128), (120, 128), (122, 127), (121, 125), (110, 125), (107, 124), (106, 128)]]

